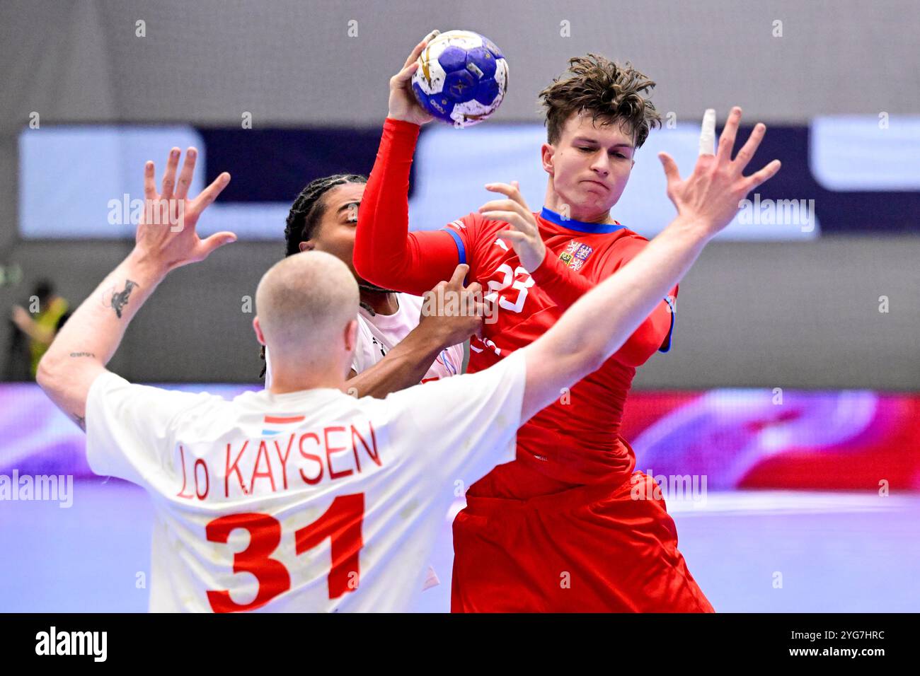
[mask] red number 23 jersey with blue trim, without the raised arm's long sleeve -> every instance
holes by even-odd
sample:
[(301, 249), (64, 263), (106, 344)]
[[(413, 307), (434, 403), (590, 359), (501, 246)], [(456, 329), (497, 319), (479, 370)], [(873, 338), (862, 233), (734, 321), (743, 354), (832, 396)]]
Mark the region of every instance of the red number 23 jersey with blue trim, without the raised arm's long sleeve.
[[(563, 220), (544, 209), (535, 213), (546, 244), (546, 259), (533, 274), (524, 269), (510, 242), (499, 236), (508, 223), (470, 213), (444, 230), (454, 237), (469, 279), (482, 284), (494, 323), (484, 338), (470, 343), (469, 371), (477, 372), (542, 336), (583, 292), (636, 256), (647, 240), (619, 223), (599, 225)], [(575, 276), (578, 277), (575, 277)], [(672, 300), (677, 289), (673, 289)], [(604, 366), (556, 403), (544, 408), (518, 432), (521, 466), (496, 467), (473, 487), (473, 495), (529, 498), (535, 491), (565, 485), (624, 481), (636, 459), (619, 441), (620, 420), (636, 367), (657, 349), (670, 348), (673, 304), (663, 301)], [(533, 473), (559, 482), (542, 480)], [(531, 487), (533, 490), (527, 490)]]

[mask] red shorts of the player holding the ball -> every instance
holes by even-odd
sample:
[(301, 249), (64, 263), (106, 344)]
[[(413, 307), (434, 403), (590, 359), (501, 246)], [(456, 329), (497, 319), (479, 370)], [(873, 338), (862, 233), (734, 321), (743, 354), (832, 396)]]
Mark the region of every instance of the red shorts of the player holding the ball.
[[(526, 500), (467, 496), (454, 520), (453, 613), (714, 613), (644, 473)], [(637, 490), (638, 493), (638, 490)]]

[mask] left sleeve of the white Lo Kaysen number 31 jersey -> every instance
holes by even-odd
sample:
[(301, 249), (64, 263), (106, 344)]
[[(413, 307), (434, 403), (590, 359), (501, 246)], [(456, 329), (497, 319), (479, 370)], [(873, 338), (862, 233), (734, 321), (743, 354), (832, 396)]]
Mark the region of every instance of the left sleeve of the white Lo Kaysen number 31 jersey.
[[(167, 462), (179, 414), (221, 397), (131, 384), (101, 373), (86, 397), (86, 461), (98, 475), (146, 486), (150, 470)], [(224, 402), (226, 403), (226, 402)]]

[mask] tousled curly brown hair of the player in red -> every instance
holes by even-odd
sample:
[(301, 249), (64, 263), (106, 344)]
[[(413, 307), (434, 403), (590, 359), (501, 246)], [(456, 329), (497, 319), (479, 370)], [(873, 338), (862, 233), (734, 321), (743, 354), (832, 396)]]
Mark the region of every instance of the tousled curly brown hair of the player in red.
[(558, 143), (566, 120), (581, 110), (592, 113), (592, 123), (598, 118), (603, 124), (619, 120), (635, 136), (637, 149), (645, 143), (652, 128), (661, 127), (661, 115), (643, 96), (655, 83), (631, 63), (620, 65), (589, 53), (569, 59), (568, 70), (571, 77), (554, 79), (539, 95), (546, 109), (547, 143)]

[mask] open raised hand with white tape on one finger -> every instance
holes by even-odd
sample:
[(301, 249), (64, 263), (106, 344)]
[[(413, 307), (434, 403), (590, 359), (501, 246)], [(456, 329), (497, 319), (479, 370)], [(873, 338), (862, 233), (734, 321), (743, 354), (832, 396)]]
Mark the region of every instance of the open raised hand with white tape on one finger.
[(673, 157), (659, 153), (664, 174), (668, 178), (668, 197), (677, 207), (678, 217), (700, 223), (709, 235), (716, 235), (739, 210), (739, 202), (751, 190), (773, 178), (779, 171), (779, 160), (773, 160), (751, 176), (744, 176), (748, 165), (764, 138), (765, 124), (758, 122), (738, 155), (731, 159), (742, 109), (731, 109), (729, 120), (719, 137), (719, 149), (713, 155), (716, 135), (716, 111), (709, 109), (703, 117), (700, 134), (700, 154), (693, 174), (682, 179)]

